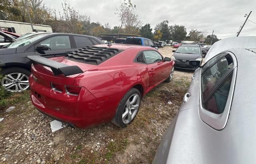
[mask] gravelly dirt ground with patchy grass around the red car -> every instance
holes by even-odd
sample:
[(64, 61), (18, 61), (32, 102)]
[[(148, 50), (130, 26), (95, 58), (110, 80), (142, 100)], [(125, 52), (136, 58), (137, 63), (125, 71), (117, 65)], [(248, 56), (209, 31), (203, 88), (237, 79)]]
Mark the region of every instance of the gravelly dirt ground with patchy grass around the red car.
[[(166, 57), (172, 48), (159, 51)], [(164, 132), (182, 103), (192, 72), (176, 70), (143, 99), (134, 122), (127, 128), (112, 123), (90, 129), (66, 126), (51, 132), (52, 119), (31, 104), (29, 91), (10, 97), (0, 111), (0, 163), (151, 163)]]

